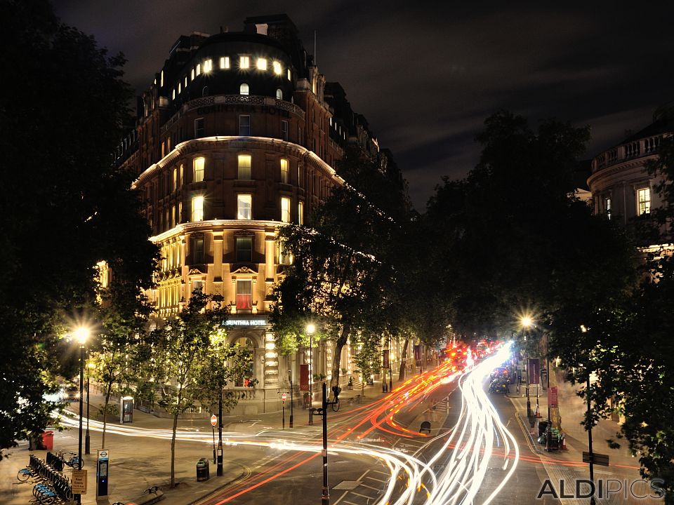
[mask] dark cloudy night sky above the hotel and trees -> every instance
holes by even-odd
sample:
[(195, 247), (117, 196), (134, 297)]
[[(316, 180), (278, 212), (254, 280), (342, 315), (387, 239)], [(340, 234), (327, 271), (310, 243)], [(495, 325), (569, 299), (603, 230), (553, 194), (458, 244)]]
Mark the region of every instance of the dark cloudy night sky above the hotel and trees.
[(674, 4), (668, 1), (56, 0), (61, 20), (126, 55), (147, 88), (180, 34), (243, 29), (286, 13), (309, 53), (392, 150), (423, 211), (443, 175), (463, 177), (475, 135), (498, 109), (592, 126), (595, 156), (674, 100)]

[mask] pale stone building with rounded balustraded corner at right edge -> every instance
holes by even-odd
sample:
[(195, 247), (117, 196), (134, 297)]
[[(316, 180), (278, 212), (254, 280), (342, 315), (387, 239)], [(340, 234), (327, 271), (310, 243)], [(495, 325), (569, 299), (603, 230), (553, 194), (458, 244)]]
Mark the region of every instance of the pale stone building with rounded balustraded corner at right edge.
[(620, 220), (630, 226), (637, 219), (648, 219), (661, 201), (654, 192), (657, 180), (648, 174), (647, 161), (656, 159), (663, 138), (674, 134), (674, 116), (663, 107), (653, 122), (637, 133), (600, 153), (592, 160), (588, 186), (595, 214)]

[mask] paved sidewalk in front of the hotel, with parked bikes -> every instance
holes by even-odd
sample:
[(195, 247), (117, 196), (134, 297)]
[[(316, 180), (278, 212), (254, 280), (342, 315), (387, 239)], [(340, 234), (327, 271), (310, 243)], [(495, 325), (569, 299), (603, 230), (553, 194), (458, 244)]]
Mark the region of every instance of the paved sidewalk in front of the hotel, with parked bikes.
[[(393, 387), (399, 384), (394, 377)], [(388, 379), (387, 379), (388, 385)], [(360, 403), (349, 403), (349, 398), (361, 394), (361, 389), (348, 390), (343, 388), (340, 394), (340, 403), (343, 411), (362, 407), (364, 403), (370, 403), (383, 398), (387, 393), (382, 392), (381, 381), (374, 382), (372, 386), (365, 387), (365, 398)], [(100, 397), (91, 396), (91, 410), (93, 405), (102, 403)], [(78, 410), (78, 404), (71, 405), (72, 410)], [(319, 407), (319, 402), (314, 403)], [(86, 404), (85, 404), (86, 410)], [(308, 410), (295, 406), (293, 408), (293, 420), (296, 429), (306, 428), (308, 425)], [(286, 431), (289, 429), (290, 409), (286, 406)], [(253, 419), (254, 418), (254, 419)], [(93, 419), (93, 417), (92, 417)], [(320, 418), (314, 419), (315, 429), (319, 429)], [(133, 423), (124, 424), (125, 428), (133, 429), (160, 429), (171, 430), (173, 420), (171, 418), (155, 417), (140, 410), (133, 410)], [(86, 419), (84, 421), (86, 427)], [(115, 501), (135, 501), (148, 487), (158, 485), (164, 491), (166, 503), (187, 505), (199, 499), (199, 497), (224, 487), (244, 474), (244, 467), (237, 464), (236, 457), (230, 448), (225, 447), (224, 474), (216, 477), (216, 465), (213, 464), (212, 443), (197, 443), (185, 440), (176, 440), (176, 482), (180, 485), (173, 490), (169, 488), (170, 482), (170, 435), (167, 438), (135, 438), (112, 433), (114, 428), (120, 426), (117, 422), (108, 422), (106, 433), (106, 449), (110, 450), (110, 480), (108, 496), (96, 500), (95, 466), (97, 450), (100, 448), (102, 433), (91, 430), (91, 454), (83, 455), (84, 469), (87, 470), (87, 494), (82, 496), (83, 504), (112, 504)], [(260, 429), (282, 429), (282, 412), (267, 412), (254, 416), (223, 416), (223, 433), (257, 433)], [(212, 435), (210, 419), (179, 419), (178, 430), (192, 433), (206, 433)], [(83, 430), (84, 431), (84, 430)], [(83, 435), (84, 437), (84, 435)], [(216, 429), (216, 440), (218, 433)], [(223, 436), (224, 438), (224, 436)], [(211, 438), (209, 437), (209, 441)], [(84, 440), (83, 440), (84, 451)], [(78, 431), (67, 429), (55, 431), (54, 450), (77, 452)], [(4, 505), (25, 505), (32, 500), (32, 485), (18, 483), (16, 474), (19, 469), (26, 466), (29, 454), (35, 454), (41, 459), (46, 459), (46, 451), (29, 451), (27, 442), (22, 442), (14, 450), (10, 457), (0, 461), (0, 503)], [(197, 482), (196, 463), (200, 458), (210, 461), (211, 478), (203, 482)], [(230, 459), (227, 459), (230, 458)], [(70, 469), (66, 467), (66, 475), (70, 476)]]

